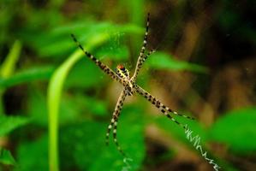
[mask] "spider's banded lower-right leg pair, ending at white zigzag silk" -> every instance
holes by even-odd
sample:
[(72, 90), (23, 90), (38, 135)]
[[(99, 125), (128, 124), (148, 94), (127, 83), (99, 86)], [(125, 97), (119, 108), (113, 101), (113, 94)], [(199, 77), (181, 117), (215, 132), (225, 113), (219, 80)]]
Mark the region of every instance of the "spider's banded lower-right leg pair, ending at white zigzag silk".
[(188, 115), (181, 115), (178, 114), (176, 111), (173, 111), (172, 109), (168, 108), (164, 103), (161, 103), (156, 97), (153, 97), (149, 92), (145, 91), (143, 88), (141, 88), (139, 85), (135, 85), (135, 90), (143, 97), (145, 97), (150, 103), (154, 104), (164, 115), (169, 117), (172, 121), (176, 122), (176, 124), (180, 125), (183, 128), (186, 128), (182, 123), (176, 121), (170, 114), (179, 115), (191, 120), (194, 120), (193, 117), (190, 117)]

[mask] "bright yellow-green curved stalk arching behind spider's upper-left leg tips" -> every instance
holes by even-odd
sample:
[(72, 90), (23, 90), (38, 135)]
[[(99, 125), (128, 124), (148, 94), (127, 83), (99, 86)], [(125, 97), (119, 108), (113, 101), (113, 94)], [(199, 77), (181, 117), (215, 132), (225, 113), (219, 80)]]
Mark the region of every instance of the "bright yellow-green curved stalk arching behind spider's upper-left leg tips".
[[(91, 50), (92, 47), (104, 43), (109, 34), (101, 33), (92, 38), (90, 45), (86, 46), (86, 50)], [(82, 51), (76, 50), (74, 54), (68, 57), (63, 64), (57, 68), (51, 76), (47, 92), (47, 105), (48, 105), (48, 120), (49, 120), (49, 167), (51, 171), (59, 170), (58, 162), (58, 115), (60, 100), (63, 91), (63, 84), (67, 78), (68, 72), (83, 57)]]

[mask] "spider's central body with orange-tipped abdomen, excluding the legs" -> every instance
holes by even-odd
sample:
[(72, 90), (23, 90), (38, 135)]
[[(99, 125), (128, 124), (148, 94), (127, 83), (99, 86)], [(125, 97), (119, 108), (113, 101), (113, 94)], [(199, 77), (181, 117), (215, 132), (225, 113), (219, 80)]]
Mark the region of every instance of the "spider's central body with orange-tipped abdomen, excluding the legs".
[(121, 77), (126, 85), (124, 89), (127, 91), (128, 96), (132, 96), (135, 92), (134, 90), (134, 81), (130, 79), (130, 74), (127, 68), (123, 65), (117, 65), (116, 67), (116, 74)]

